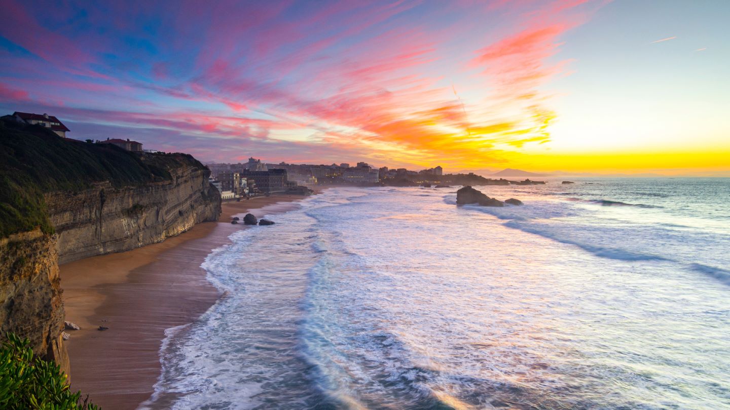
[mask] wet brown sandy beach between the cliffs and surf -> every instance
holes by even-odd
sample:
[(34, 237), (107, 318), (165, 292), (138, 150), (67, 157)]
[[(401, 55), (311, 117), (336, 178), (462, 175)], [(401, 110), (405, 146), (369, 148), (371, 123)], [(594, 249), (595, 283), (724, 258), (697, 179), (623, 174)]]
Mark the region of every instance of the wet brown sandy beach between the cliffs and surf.
[[(153, 392), (164, 330), (192, 322), (218, 298), (200, 267), (228, 236), (234, 216), (286, 212), (301, 196), (225, 202), (218, 223), (201, 223), (158, 244), (61, 266), (72, 390), (104, 409), (135, 409)], [(98, 330), (99, 326), (108, 330)]]

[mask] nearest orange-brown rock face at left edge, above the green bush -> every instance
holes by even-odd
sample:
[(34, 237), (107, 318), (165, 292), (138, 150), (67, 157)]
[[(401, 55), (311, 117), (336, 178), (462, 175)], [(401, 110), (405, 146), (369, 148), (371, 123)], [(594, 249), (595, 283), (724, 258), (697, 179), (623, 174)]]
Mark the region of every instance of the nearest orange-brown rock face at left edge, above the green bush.
[(0, 239), (0, 333), (27, 337), (68, 372), (56, 239), (39, 229)]

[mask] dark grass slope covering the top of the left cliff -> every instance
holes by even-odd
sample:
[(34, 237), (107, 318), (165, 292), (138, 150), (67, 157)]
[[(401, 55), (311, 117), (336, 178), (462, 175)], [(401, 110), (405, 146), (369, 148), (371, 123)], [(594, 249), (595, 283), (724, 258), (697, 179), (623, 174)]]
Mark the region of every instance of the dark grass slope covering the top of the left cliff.
[(43, 193), (75, 192), (104, 181), (115, 187), (164, 181), (172, 178), (171, 169), (183, 165), (204, 168), (187, 154), (140, 155), (0, 120), (0, 238), (37, 226), (53, 233)]

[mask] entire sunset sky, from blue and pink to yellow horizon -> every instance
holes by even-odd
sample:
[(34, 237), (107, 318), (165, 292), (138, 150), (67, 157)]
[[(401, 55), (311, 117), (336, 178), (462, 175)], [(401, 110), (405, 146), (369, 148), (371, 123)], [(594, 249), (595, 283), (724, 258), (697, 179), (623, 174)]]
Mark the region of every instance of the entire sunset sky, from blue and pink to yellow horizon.
[(0, 0), (0, 113), (204, 161), (730, 175), (730, 1)]

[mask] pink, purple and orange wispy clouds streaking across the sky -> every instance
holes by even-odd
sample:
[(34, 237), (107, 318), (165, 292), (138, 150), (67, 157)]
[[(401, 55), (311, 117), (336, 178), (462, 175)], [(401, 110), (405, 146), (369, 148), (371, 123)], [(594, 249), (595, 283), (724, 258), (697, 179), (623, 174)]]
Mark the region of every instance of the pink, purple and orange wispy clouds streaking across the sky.
[(593, 4), (9, 0), (0, 107), (204, 160), (503, 163), (550, 139), (544, 86)]

